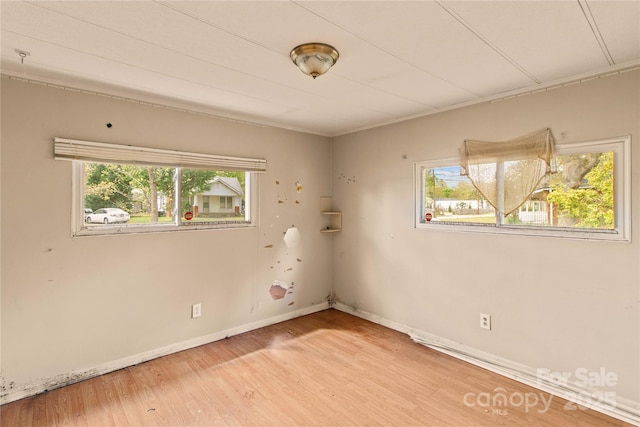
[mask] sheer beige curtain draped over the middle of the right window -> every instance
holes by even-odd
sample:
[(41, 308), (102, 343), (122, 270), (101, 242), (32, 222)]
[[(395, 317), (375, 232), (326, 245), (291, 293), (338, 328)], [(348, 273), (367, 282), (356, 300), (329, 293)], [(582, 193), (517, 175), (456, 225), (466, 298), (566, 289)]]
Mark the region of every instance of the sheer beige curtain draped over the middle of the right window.
[(504, 142), (464, 142), (462, 174), (500, 213), (522, 205), (551, 171), (554, 139), (550, 129)]

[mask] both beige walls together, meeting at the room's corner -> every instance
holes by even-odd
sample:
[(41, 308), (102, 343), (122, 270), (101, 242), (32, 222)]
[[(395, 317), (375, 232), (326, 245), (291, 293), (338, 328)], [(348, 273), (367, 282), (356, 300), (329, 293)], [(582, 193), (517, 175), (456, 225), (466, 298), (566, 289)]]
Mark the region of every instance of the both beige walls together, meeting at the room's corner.
[[(617, 395), (638, 402), (639, 79), (628, 72), (332, 144), (3, 78), (3, 394), (273, 319), (333, 289), (354, 308), (532, 368), (604, 367), (619, 377)], [(454, 157), (465, 138), (544, 127), (561, 144), (632, 135), (632, 243), (414, 229), (414, 161)], [(71, 238), (71, 165), (52, 159), (54, 136), (265, 157), (259, 225)], [(323, 235), (319, 198), (332, 191), (343, 230)], [(287, 249), (291, 225), (302, 243)], [(294, 306), (271, 300), (276, 279), (295, 282)], [(191, 320), (196, 302), (203, 316)], [(492, 331), (478, 327), (480, 312)]]

